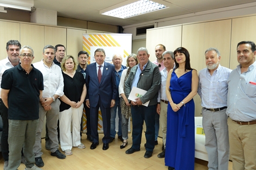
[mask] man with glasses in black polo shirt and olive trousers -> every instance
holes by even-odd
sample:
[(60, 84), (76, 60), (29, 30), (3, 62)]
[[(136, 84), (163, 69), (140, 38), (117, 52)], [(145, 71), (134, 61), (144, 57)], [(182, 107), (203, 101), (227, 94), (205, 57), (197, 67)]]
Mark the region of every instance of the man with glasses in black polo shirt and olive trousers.
[(34, 68), (34, 51), (29, 46), (21, 48), (21, 64), (4, 71), (1, 97), (8, 108), (9, 119), (9, 170), (21, 164), (21, 150), (27, 160), (25, 169), (36, 167), (33, 146), (39, 123), (39, 101), (42, 97), (43, 75)]

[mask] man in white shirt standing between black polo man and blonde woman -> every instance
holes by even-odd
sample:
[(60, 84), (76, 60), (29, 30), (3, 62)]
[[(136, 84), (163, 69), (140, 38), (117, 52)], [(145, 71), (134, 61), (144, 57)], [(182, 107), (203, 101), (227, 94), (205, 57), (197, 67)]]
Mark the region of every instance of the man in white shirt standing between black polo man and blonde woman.
[(46, 45), (43, 48), (43, 60), (34, 63), (35, 68), (43, 74), (44, 90), (39, 104), (39, 126), (36, 130), (36, 142), (34, 145), (36, 166), (43, 167), (41, 133), (43, 129), (44, 117), (48, 127), (50, 139), (50, 155), (59, 159), (65, 159), (66, 156), (59, 151), (59, 141), (57, 139), (57, 121), (60, 112), (59, 96), (63, 95), (63, 76), (61, 68), (54, 64), (55, 49), (52, 45)]

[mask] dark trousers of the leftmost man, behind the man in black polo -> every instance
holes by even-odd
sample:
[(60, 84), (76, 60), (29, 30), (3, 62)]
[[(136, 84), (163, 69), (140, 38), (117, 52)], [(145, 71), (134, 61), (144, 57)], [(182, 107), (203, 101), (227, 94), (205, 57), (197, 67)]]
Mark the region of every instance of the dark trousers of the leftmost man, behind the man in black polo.
[(9, 129), (9, 123), (8, 123), (8, 108), (5, 107), (2, 99), (0, 99), (0, 114), (3, 121), (3, 132), (2, 132), (2, 138), (1, 138), (1, 147), (2, 147), (2, 155), (4, 161), (9, 160), (9, 145), (8, 145), (8, 129)]

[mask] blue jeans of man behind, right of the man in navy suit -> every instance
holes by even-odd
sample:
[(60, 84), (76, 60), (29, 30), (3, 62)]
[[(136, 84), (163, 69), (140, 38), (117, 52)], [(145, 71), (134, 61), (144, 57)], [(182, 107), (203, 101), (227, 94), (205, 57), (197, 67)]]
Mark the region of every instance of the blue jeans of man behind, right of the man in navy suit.
[[(116, 116), (117, 116), (117, 108), (118, 108), (118, 133), (116, 132)], [(118, 136), (122, 135), (121, 131), (121, 107), (120, 107), (120, 101), (116, 100), (116, 104), (114, 104), (114, 107), (110, 109), (111, 118), (110, 118), (110, 137), (114, 138), (116, 136), (116, 133)]]

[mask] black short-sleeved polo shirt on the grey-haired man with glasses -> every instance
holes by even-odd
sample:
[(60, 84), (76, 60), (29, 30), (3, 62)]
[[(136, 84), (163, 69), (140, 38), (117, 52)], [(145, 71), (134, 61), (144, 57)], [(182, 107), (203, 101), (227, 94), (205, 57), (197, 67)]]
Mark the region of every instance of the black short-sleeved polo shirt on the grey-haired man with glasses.
[(8, 119), (36, 120), (39, 119), (39, 95), (43, 90), (43, 75), (34, 68), (29, 74), (19, 64), (4, 71), (2, 89), (9, 89)]

